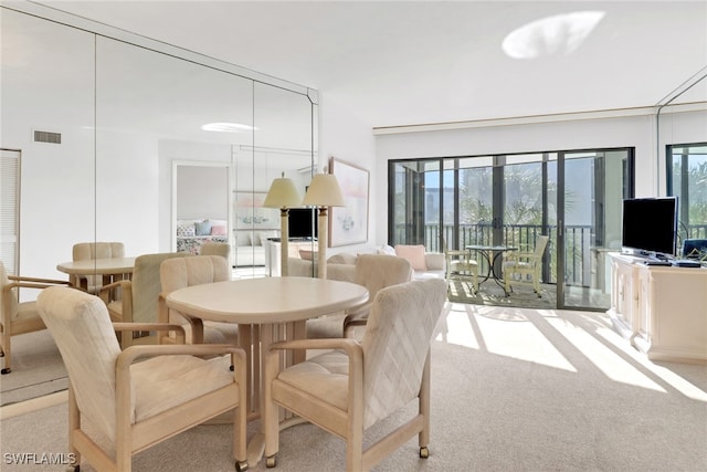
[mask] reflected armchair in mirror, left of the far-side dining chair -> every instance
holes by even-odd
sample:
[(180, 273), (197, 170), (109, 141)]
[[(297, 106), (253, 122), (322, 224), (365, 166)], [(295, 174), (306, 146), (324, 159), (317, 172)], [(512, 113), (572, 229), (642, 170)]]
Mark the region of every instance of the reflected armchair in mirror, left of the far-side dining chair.
[[(168, 259), (190, 256), (193, 254), (189, 252), (163, 252), (135, 258), (135, 268), (130, 280), (116, 281), (101, 289), (101, 297), (106, 300), (107, 293), (120, 287), (120, 300), (108, 301), (110, 319), (123, 323), (156, 323), (161, 292), (160, 264)], [(124, 333), (120, 336), (123, 348), (130, 346), (133, 340), (133, 333)]]

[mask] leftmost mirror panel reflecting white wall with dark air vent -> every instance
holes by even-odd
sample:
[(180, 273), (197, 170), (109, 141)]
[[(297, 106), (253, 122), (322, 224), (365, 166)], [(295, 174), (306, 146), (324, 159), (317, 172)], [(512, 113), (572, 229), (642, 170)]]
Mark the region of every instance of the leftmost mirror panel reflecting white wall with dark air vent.
[[(1, 13), (0, 147), (21, 156), (18, 272), (65, 279), (56, 265), (95, 231), (94, 35)], [(35, 132), (61, 143), (43, 141), (41, 133), (35, 139)]]

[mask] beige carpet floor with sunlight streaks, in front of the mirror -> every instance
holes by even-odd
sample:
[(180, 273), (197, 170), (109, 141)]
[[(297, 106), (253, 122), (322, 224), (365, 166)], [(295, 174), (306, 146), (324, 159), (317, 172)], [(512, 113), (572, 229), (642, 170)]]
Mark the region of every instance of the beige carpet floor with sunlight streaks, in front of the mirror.
[[(0, 449), (66, 452), (65, 424), (65, 403), (4, 419)], [(197, 427), (139, 453), (133, 470), (231, 471), (229, 442), (225, 426)], [(432, 346), (431, 455), (416, 452), (412, 440), (374, 470), (704, 472), (707, 366), (648, 361), (603, 314), (450, 304)], [(344, 470), (344, 458), (341, 440), (300, 424), (282, 433), (274, 470)]]

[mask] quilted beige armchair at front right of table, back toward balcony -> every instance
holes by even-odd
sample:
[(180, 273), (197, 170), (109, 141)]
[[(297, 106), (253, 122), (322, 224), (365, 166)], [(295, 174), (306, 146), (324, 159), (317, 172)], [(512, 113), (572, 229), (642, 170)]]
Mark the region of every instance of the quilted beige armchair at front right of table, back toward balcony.
[[(278, 452), (277, 407), (347, 443), (348, 471), (369, 470), (415, 434), (430, 442), (430, 344), (446, 300), (443, 279), (411, 281), (376, 295), (362, 342), (351, 338), (275, 343), (265, 358), (263, 420), (267, 466)], [(282, 350), (334, 349), (281, 370)], [(413, 400), (411, 419), (363, 451), (363, 431)]]

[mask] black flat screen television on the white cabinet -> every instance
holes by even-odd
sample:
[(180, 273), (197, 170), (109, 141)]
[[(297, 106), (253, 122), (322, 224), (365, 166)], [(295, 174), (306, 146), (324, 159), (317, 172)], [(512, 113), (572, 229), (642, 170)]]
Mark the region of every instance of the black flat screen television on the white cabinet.
[(625, 199), (621, 237), (624, 252), (672, 258), (677, 243), (677, 197)]

